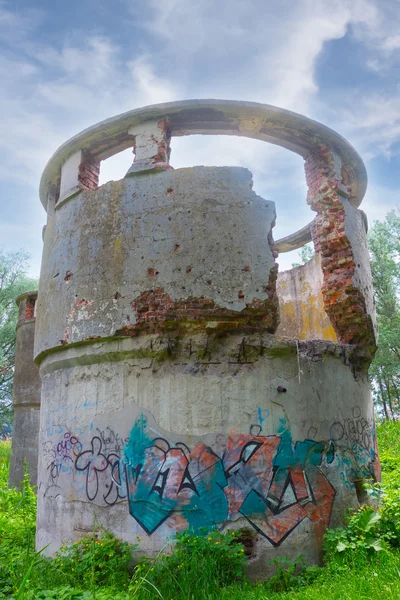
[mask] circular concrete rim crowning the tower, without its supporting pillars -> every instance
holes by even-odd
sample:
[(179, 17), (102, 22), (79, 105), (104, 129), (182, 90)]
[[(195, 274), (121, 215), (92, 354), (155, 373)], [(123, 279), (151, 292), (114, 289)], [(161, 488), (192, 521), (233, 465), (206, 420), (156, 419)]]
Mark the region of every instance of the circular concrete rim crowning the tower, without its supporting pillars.
[[(98, 160), (104, 160), (133, 146), (131, 127), (155, 120), (168, 119), (171, 136), (193, 134), (237, 135), (282, 146), (303, 158), (320, 144), (330, 145), (342, 159), (350, 202), (359, 206), (367, 188), (364, 163), (345, 138), (298, 113), (257, 102), (233, 100), (185, 100), (153, 104), (137, 108), (111, 119), (101, 121), (62, 144), (47, 163), (40, 181), (40, 200), (47, 208), (47, 197), (55, 194), (62, 164), (83, 150)], [(300, 248), (311, 241), (310, 226), (278, 240), (275, 247), (281, 252)]]

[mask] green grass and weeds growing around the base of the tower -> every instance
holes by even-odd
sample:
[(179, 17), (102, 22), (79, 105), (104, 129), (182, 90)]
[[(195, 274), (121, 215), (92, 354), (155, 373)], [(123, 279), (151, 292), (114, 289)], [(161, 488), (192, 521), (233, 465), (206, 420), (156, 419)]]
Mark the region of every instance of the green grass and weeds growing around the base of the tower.
[(389, 550), (331, 550), (322, 568), (289, 567), (262, 584), (241, 576), (240, 548), (218, 532), (197, 539), (185, 533), (171, 557), (136, 569), (126, 545), (107, 532), (43, 558), (34, 549), (35, 494), (27, 482), (22, 491), (8, 489), (10, 443), (1, 442), (0, 599), (400, 600), (400, 533), (391, 537), (400, 532), (400, 423), (380, 425), (378, 441), (386, 494), (378, 526)]

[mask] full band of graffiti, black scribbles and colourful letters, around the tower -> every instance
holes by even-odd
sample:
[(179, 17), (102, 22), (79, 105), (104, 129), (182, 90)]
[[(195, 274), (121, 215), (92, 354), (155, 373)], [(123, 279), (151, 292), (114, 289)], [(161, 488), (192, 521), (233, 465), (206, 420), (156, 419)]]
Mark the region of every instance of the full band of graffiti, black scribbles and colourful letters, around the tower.
[(91, 423), (84, 444), (61, 427), (58, 439), (43, 445), (44, 494), (55, 498), (68, 487), (75, 498), (100, 506), (126, 502), (149, 536), (163, 524), (172, 532), (200, 531), (245, 518), (274, 546), (303, 521), (322, 539), (336, 495), (328, 474), (349, 491), (354, 482), (378, 476), (374, 428), (357, 407), (351, 414), (331, 426), (326, 442), (317, 441), (313, 426), (306, 439), (293, 441), (283, 417), (275, 434), (264, 435), (266, 409), (257, 411), (248, 434), (209, 434), (190, 443), (161, 434), (145, 414), (128, 437)]

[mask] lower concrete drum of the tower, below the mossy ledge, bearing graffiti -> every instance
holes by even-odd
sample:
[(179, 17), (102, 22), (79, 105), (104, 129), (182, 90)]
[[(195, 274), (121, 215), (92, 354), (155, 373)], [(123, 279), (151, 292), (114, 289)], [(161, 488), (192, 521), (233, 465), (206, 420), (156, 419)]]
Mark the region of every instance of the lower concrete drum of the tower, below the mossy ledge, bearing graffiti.
[(354, 348), (274, 336), (158, 335), (60, 349), (41, 364), (38, 547), (94, 527), (156, 554), (186, 527), (246, 529), (249, 567), (321, 558), (328, 523), (379, 477)]

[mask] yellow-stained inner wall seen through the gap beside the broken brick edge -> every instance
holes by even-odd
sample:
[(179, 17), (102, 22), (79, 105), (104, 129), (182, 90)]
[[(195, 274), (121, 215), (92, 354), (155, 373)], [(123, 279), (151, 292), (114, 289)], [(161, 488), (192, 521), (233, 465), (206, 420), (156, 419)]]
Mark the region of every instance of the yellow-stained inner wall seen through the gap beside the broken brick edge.
[(314, 254), (305, 265), (278, 273), (280, 323), (277, 335), (299, 340), (337, 341), (325, 312), (321, 287), (321, 257)]

